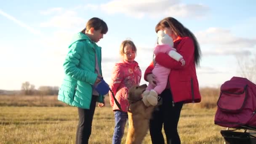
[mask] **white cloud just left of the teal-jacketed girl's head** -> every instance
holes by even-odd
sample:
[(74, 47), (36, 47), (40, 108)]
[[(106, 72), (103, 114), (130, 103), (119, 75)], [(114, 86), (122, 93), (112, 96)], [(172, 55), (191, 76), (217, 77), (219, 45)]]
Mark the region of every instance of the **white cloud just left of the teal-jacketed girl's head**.
[(85, 24), (85, 19), (77, 16), (75, 11), (60, 11), (61, 13), (52, 16), (48, 21), (40, 23), (40, 27), (73, 28)]

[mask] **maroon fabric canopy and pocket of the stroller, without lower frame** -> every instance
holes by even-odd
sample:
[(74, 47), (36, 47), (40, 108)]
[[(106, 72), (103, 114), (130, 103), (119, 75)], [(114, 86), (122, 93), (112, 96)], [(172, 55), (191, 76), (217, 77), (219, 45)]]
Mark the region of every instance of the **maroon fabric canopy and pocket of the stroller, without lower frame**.
[(256, 85), (243, 77), (232, 77), (221, 85), (214, 123), (223, 127), (256, 128)]

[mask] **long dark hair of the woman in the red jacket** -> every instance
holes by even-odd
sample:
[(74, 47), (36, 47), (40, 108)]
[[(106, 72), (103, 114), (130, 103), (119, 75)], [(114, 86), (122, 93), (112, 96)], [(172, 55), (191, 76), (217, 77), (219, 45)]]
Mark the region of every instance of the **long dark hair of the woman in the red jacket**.
[(155, 26), (155, 32), (158, 32), (159, 30), (164, 29), (165, 27), (171, 28), (172, 32), (176, 36), (192, 38), (192, 40), (194, 42), (194, 47), (195, 47), (195, 52), (194, 52), (195, 64), (197, 66), (199, 66), (202, 54), (201, 54), (201, 50), (200, 50), (200, 45), (197, 42), (197, 38), (195, 37), (195, 35), (189, 29), (184, 27), (178, 20), (174, 19), (173, 17), (167, 17), (167, 18), (161, 20)]

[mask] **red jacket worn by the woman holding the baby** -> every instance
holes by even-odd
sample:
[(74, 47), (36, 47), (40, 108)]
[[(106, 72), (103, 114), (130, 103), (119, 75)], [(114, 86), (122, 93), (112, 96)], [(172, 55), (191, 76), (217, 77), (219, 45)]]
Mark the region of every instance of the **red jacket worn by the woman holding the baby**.
[[(156, 56), (158, 64), (171, 69), (166, 87), (171, 88), (173, 103), (179, 101), (184, 101), (184, 103), (200, 102), (201, 96), (195, 69), (194, 42), (190, 37), (178, 37), (174, 41), (174, 48), (186, 61), (184, 67), (181, 66), (181, 62), (172, 59), (165, 53), (159, 53)], [(153, 62), (151, 62), (145, 71), (145, 80), (153, 68)]]

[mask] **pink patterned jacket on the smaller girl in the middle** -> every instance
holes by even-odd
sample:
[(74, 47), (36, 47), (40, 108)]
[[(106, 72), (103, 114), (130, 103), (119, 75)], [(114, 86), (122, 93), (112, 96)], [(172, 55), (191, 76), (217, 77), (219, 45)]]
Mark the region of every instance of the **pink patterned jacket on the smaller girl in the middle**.
[[(141, 80), (141, 69), (136, 61), (129, 62), (122, 60), (115, 64), (112, 72), (112, 78), (110, 82), (110, 89), (113, 91), (115, 98), (119, 102), (122, 111), (128, 111), (128, 89), (133, 85), (139, 85)], [(112, 97), (112, 93), (109, 91), (109, 101), (113, 110), (117, 110), (118, 107)]]

